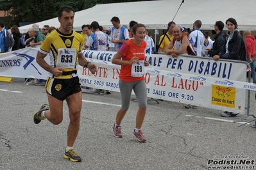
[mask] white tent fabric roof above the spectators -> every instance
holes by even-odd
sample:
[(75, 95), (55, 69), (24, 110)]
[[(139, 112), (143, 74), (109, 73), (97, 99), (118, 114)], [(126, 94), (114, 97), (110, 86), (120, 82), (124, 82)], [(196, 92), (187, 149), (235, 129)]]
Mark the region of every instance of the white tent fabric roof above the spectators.
[[(175, 19), (175, 13), (178, 11)], [(237, 20), (240, 30), (250, 29), (256, 31), (255, 0), (162, 0), (162, 1), (139, 1), (131, 3), (97, 4), (87, 10), (76, 12), (74, 15), (74, 30), (81, 31), (83, 24), (90, 24), (92, 21), (99, 22), (99, 25), (112, 27), (112, 17), (119, 17), (122, 25), (129, 25), (135, 20), (146, 26), (147, 29), (166, 29), (168, 22), (173, 20), (178, 26), (190, 27), (195, 20), (201, 20), (201, 29), (213, 30), (217, 20), (233, 17)], [(39, 26), (44, 25), (59, 27), (57, 18), (38, 22)], [(26, 33), (32, 24), (19, 27), (21, 32)], [(226, 28), (225, 28), (226, 29)]]

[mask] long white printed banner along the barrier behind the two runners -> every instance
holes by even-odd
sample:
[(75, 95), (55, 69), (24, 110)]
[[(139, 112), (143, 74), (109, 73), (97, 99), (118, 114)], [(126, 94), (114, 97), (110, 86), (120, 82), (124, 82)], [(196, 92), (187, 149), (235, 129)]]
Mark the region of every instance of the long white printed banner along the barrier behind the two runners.
[[(37, 48), (0, 54), (1, 76), (46, 79), (48, 73), (36, 62)], [(83, 50), (83, 55), (98, 66), (98, 72), (92, 75), (79, 66), (81, 84), (119, 91), (121, 67), (111, 63), (115, 52)], [(45, 59), (49, 63), (49, 57)], [(245, 89), (256, 91), (255, 84), (246, 82), (244, 63), (192, 56), (172, 58), (165, 54), (147, 54), (146, 60), (149, 61), (144, 75), (148, 97), (244, 113)]]

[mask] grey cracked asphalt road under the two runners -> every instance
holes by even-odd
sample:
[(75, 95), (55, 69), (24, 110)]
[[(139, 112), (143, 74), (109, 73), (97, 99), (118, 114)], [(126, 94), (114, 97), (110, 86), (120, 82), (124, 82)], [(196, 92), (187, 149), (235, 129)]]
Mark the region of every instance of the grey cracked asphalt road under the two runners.
[[(71, 162), (63, 157), (67, 104), (60, 125), (47, 120), (35, 125), (33, 113), (47, 104), (46, 92), (44, 86), (22, 86), (23, 82), (17, 78), (12, 83), (0, 82), (0, 169), (210, 169), (212, 164), (222, 169), (256, 168), (255, 128), (233, 122), (243, 114), (222, 118), (215, 109), (149, 101), (142, 127), (148, 141), (138, 143), (132, 135), (137, 102), (131, 102), (122, 122), (123, 138), (112, 134), (121, 105), (120, 94), (114, 92), (83, 93), (80, 132), (74, 145), (82, 162)], [(246, 121), (253, 119), (249, 116)]]

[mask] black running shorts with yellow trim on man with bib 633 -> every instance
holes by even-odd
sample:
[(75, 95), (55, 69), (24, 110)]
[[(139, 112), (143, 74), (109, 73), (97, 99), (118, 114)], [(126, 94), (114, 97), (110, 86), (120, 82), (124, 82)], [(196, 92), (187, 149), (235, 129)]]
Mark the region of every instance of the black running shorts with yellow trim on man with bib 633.
[(46, 81), (46, 92), (58, 100), (63, 101), (66, 97), (74, 93), (79, 93), (81, 91), (80, 85), (78, 76), (71, 79), (48, 77)]

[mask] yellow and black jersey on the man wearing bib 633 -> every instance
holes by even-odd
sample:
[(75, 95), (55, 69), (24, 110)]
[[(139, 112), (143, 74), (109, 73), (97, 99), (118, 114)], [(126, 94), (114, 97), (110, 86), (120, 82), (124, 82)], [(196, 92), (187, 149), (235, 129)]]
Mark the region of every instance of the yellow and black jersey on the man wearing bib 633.
[[(78, 54), (81, 53), (84, 43), (85, 40), (76, 31), (65, 35), (56, 29), (46, 36), (39, 51), (43, 54), (49, 53), (51, 67), (60, 66), (64, 68), (64, 72), (72, 72), (78, 70)], [(73, 75), (61, 75), (55, 78), (70, 79), (74, 75), (77, 76), (76, 73), (73, 73)], [(53, 74), (49, 73), (49, 77), (53, 77)]]

